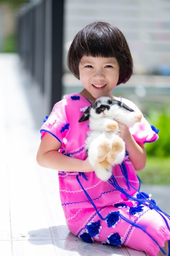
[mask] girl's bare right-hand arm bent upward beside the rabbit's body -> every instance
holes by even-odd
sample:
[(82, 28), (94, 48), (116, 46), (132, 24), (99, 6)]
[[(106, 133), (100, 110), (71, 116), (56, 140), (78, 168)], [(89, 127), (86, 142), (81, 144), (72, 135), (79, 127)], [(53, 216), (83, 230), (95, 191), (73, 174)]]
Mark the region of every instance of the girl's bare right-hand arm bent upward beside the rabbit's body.
[(136, 171), (142, 170), (146, 165), (146, 150), (143, 144), (137, 144), (129, 129), (124, 124), (118, 123), (119, 136), (125, 141), (129, 159)]

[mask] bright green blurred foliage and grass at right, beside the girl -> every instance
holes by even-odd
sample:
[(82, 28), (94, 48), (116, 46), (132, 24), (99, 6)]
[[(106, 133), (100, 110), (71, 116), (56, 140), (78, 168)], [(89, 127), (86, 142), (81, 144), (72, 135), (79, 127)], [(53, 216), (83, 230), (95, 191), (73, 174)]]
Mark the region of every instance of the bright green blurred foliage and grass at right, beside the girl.
[(145, 144), (146, 167), (137, 175), (144, 184), (170, 185), (170, 110), (149, 109), (147, 120), (159, 129), (159, 139)]

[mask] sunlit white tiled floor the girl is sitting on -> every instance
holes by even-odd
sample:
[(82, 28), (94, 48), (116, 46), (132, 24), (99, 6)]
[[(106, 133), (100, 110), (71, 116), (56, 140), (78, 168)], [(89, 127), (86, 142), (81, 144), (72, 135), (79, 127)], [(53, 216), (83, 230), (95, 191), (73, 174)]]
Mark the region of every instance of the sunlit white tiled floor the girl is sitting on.
[(0, 55), (0, 72), (0, 256), (144, 256), (87, 244), (68, 231), (57, 172), (35, 161), (40, 124), (34, 117), (42, 115), (38, 88), (24, 74), (18, 56)]

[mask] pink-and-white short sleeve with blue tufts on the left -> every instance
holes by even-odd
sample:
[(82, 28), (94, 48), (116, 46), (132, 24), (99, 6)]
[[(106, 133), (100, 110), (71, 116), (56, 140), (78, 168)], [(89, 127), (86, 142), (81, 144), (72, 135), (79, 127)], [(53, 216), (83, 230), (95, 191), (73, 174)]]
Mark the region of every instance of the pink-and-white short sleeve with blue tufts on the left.
[(55, 104), (51, 114), (40, 129), (41, 138), (43, 138), (44, 134), (48, 132), (62, 144), (63, 138), (69, 131), (70, 126), (66, 117), (65, 106), (65, 99), (62, 99), (62, 101), (59, 101)]

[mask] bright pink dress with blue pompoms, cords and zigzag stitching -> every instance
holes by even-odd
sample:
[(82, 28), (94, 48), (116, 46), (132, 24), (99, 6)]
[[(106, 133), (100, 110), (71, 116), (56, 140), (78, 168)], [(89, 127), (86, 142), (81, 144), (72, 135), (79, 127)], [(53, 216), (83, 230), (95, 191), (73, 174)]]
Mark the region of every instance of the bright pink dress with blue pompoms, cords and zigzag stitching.
[[(120, 100), (132, 109), (134, 103)], [(80, 94), (67, 95), (56, 103), (41, 128), (61, 143), (60, 153), (86, 159), (85, 141), (88, 121), (79, 123), (91, 103)], [(155, 132), (156, 131), (156, 132)], [(145, 118), (130, 128), (138, 143), (158, 139), (157, 130)], [(94, 172), (58, 172), (60, 198), (68, 229), (88, 243), (100, 241), (105, 245), (126, 245), (156, 256), (160, 247), (170, 239), (170, 219), (144, 192), (128, 159), (113, 168), (113, 176), (103, 182)], [(139, 239), (140, 238), (140, 239)]]

